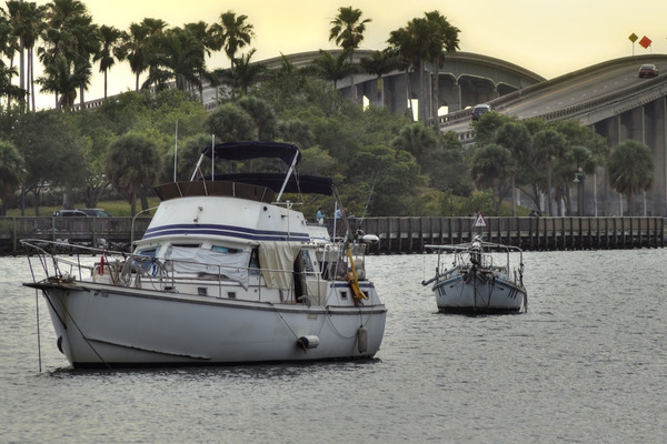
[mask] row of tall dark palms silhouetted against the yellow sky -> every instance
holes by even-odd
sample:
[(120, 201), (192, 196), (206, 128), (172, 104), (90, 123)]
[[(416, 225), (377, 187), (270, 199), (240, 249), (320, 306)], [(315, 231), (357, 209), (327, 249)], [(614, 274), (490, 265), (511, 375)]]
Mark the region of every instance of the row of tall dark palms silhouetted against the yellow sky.
[[(378, 83), (381, 83), (382, 74), (387, 72), (419, 70), (419, 98), (437, 98), (438, 82), (425, 78), (425, 65), (427, 62), (441, 65), (445, 53), (458, 49), (460, 31), (440, 12), (426, 12), (391, 31), (387, 48), (354, 63), (354, 52), (364, 41), (366, 26), (370, 22), (371, 19), (364, 18), (359, 9), (339, 8), (330, 23), (329, 40), (344, 50), (342, 54), (335, 57), (321, 51), (321, 57), (310, 69), (334, 83), (356, 72), (378, 75)], [(53, 93), (57, 109), (70, 108), (77, 99), (83, 104), (96, 68), (103, 73), (107, 98), (108, 75), (117, 62), (129, 63), (136, 77), (136, 91), (161, 90), (173, 83), (180, 90), (201, 93), (203, 82), (247, 90), (266, 74), (260, 63), (251, 61), (255, 27), (247, 16), (233, 11), (221, 13), (213, 23), (199, 21), (169, 27), (163, 20), (146, 18), (120, 30), (94, 23), (86, 4), (79, 0), (51, 0), (43, 6), (9, 0), (6, 8), (0, 9), (0, 95), (8, 108), (17, 100), (34, 111), (36, 84), (41, 92)], [(245, 49), (248, 51), (242, 53)], [(209, 70), (207, 58), (219, 51), (228, 57), (230, 68)], [(36, 53), (43, 67), (42, 75), (37, 79)], [(17, 56), (18, 69), (14, 64)], [(19, 77), (18, 85), (13, 85), (16, 75)], [(428, 88), (435, 91), (427, 94)], [(427, 102), (419, 101), (420, 118), (437, 118), (437, 104)]]

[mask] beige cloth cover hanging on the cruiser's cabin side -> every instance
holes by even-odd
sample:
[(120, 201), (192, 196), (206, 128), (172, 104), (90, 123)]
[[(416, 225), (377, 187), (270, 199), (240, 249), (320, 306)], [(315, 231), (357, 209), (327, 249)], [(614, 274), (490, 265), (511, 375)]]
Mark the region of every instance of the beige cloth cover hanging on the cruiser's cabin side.
[(301, 251), (299, 242), (259, 242), (261, 275), (269, 289), (291, 287), (295, 260), (299, 251)]

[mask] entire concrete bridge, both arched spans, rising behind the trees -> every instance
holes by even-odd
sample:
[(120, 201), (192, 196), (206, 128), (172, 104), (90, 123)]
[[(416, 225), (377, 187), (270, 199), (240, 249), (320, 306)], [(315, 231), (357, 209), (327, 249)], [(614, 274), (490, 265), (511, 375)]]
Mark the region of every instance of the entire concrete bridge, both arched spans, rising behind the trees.
[[(334, 56), (339, 50), (330, 51)], [(375, 51), (356, 51), (355, 61), (368, 58)], [(302, 68), (319, 57), (319, 51), (285, 56), (296, 68)], [(269, 69), (278, 69), (282, 58), (260, 61)], [(643, 63), (655, 63), (660, 72), (654, 79), (638, 79)], [(435, 68), (427, 65), (429, 74)], [(432, 77), (432, 75), (431, 75)], [(468, 52), (446, 54), (439, 69), (438, 107), (440, 131), (452, 131), (464, 143), (474, 142), (471, 109), (477, 103), (489, 103), (494, 110), (519, 119), (540, 118), (546, 121), (576, 119), (589, 125), (615, 147), (628, 139), (647, 144), (653, 153), (654, 185), (641, 195), (635, 214), (667, 216), (667, 56), (650, 54), (615, 59), (571, 73), (546, 80), (512, 63)], [(352, 81), (357, 97), (368, 105), (386, 107), (395, 113), (407, 113), (408, 102), (416, 100), (419, 73), (394, 71), (378, 79), (356, 74), (338, 82), (345, 95), (351, 97)], [(432, 81), (432, 79), (431, 79)], [(205, 88), (202, 101), (215, 109), (216, 92)], [(87, 102), (83, 108), (96, 108), (102, 100)], [(577, 196), (573, 196), (577, 202)], [(586, 178), (583, 200), (577, 202), (580, 215), (623, 215), (624, 196), (608, 184), (604, 168), (593, 178)]]

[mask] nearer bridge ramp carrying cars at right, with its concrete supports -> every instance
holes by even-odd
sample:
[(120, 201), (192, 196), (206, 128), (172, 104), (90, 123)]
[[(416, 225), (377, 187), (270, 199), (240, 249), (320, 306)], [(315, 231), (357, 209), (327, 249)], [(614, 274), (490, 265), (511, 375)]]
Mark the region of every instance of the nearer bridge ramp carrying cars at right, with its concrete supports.
[[(643, 63), (663, 72), (639, 79)], [(610, 60), (559, 78), (505, 94), (488, 103), (498, 112), (519, 119), (545, 121), (574, 119), (603, 135), (610, 147), (636, 140), (650, 148), (654, 184), (636, 199), (635, 214), (667, 215), (667, 56), (641, 56)], [(441, 131), (454, 131), (464, 142), (474, 138), (470, 110), (440, 119)], [(586, 178), (581, 202), (573, 195), (581, 215), (623, 215), (625, 196), (611, 190), (604, 168)]]

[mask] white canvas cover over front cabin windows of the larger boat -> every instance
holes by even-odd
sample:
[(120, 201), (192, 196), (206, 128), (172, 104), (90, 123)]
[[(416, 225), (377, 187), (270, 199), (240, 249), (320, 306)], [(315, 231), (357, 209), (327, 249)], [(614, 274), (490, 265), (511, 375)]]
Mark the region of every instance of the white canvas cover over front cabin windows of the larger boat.
[(248, 264), (250, 252), (222, 253), (213, 250), (169, 245), (166, 260), (172, 260), (171, 266), (177, 273), (222, 274), (248, 287)]

